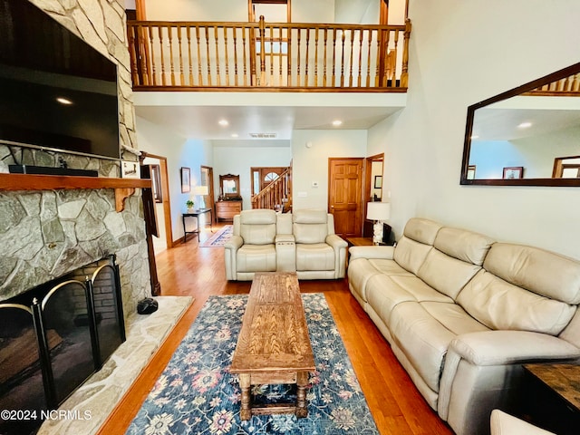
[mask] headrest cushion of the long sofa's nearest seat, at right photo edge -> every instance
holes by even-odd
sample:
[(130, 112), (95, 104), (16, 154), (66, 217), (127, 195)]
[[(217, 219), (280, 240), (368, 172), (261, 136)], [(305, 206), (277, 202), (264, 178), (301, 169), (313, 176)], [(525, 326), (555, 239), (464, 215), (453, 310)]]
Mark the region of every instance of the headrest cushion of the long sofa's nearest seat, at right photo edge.
[(580, 304), (580, 263), (537, 247), (496, 243), (484, 268), (508, 283), (566, 304)]

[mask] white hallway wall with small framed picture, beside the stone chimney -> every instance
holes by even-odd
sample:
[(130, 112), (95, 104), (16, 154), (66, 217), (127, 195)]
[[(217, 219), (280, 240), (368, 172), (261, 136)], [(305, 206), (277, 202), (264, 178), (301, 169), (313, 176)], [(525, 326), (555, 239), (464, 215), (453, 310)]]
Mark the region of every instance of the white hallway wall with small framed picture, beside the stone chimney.
[[(183, 237), (181, 215), (186, 211), (185, 202), (193, 196), (193, 186), (198, 184), (199, 167), (201, 165), (212, 166), (213, 164), (211, 143), (208, 140), (187, 140), (167, 128), (140, 117), (137, 117), (136, 123), (140, 150), (167, 158), (171, 230), (173, 240), (178, 240)], [(179, 170), (182, 167), (191, 169), (192, 188), (190, 193), (181, 193)], [(195, 198), (196, 201), (197, 199)]]

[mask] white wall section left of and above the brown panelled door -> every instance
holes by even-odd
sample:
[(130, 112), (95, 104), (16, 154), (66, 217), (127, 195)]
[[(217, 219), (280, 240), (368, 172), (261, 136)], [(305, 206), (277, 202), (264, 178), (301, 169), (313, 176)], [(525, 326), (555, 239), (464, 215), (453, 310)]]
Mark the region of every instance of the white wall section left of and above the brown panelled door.
[[(328, 158), (366, 157), (366, 141), (367, 131), (362, 130), (295, 130), (293, 208), (328, 208)], [(306, 143), (312, 147), (306, 148)]]

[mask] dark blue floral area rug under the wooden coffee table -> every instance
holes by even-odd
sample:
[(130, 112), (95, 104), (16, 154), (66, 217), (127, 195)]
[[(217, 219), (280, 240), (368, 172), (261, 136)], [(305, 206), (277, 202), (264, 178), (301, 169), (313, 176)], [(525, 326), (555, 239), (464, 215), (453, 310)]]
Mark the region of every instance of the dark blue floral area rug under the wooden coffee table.
[[(303, 295), (316, 372), (310, 375), (308, 417), (239, 418), (240, 389), (228, 372), (247, 295), (210, 296), (179, 344), (127, 434), (378, 435), (323, 294)], [(256, 387), (278, 401), (285, 386)]]

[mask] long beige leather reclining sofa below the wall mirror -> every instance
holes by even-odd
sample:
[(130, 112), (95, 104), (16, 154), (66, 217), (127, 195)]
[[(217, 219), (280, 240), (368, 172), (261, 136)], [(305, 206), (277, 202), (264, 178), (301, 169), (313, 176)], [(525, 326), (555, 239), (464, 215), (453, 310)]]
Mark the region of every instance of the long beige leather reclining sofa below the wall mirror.
[(354, 297), (459, 435), (489, 433), (522, 362), (580, 358), (579, 262), (422, 218), (350, 255)]

